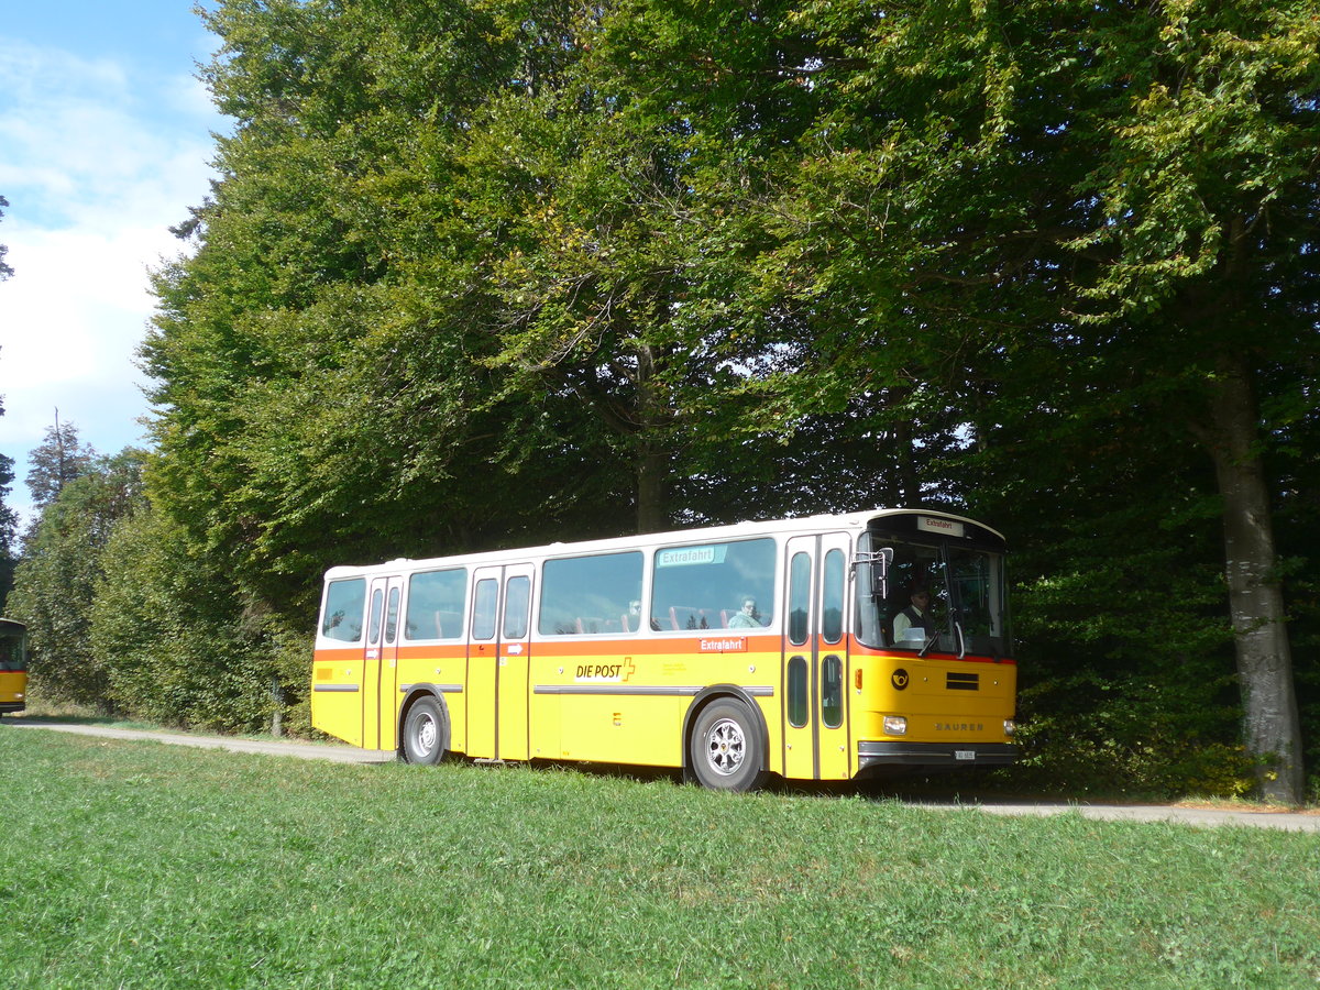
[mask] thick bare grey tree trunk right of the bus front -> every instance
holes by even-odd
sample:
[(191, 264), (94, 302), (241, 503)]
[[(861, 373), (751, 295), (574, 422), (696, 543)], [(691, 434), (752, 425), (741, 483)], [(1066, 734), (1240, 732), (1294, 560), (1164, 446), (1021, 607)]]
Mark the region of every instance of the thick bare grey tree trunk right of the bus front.
[(1214, 459), (1224, 500), (1224, 556), (1246, 751), (1255, 762), (1261, 793), (1298, 804), (1302, 726), (1249, 375), (1241, 356), (1220, 360), (1209, 424), (1200, 434)]

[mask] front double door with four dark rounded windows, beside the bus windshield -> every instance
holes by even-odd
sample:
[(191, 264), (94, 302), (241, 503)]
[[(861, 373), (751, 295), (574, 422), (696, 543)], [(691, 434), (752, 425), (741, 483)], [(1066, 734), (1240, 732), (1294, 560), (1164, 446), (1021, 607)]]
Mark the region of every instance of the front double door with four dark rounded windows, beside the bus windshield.
[(851, 776), (847, 746), (846, 533), (788, 541), (781, 676), (783, 774), (807, 780)]

